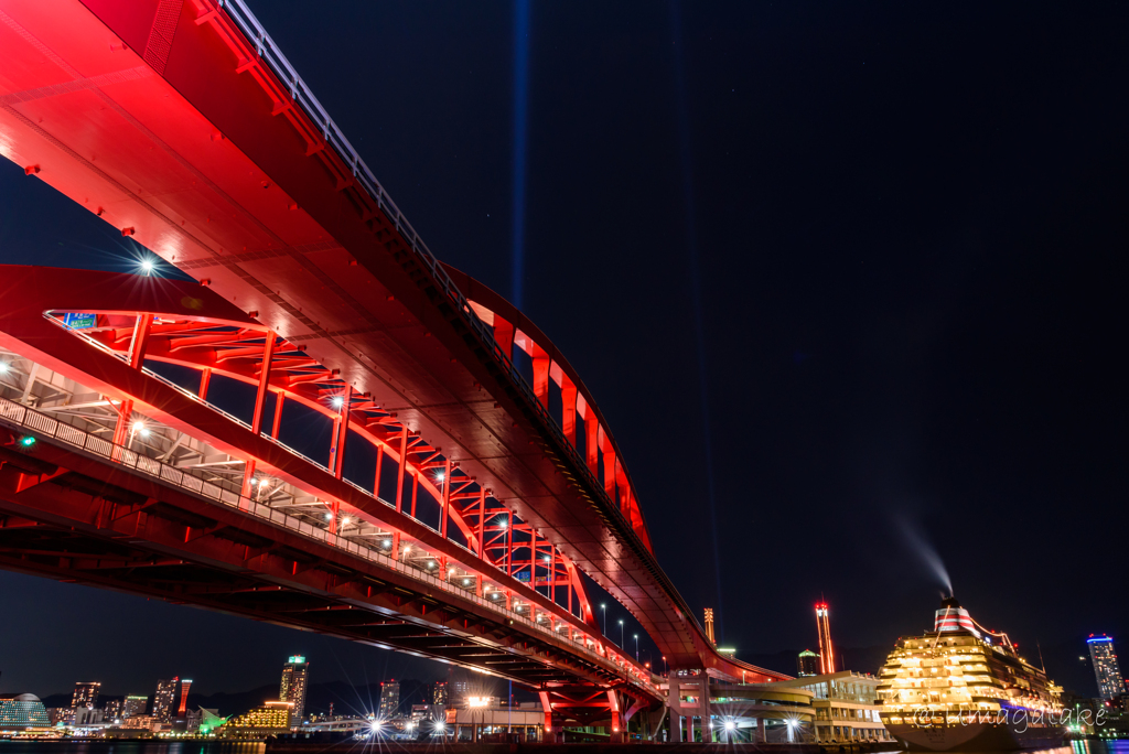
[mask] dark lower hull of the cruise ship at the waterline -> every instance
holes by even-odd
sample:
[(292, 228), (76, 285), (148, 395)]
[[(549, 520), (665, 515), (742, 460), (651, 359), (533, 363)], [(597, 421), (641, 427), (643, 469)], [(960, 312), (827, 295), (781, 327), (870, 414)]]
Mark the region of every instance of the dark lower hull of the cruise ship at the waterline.
[(910, 752), (1013, 752), (1057, 748), (1066, 730), (1061, 726), (972, 722), (969, 725), (887, 725), (886, 730)]

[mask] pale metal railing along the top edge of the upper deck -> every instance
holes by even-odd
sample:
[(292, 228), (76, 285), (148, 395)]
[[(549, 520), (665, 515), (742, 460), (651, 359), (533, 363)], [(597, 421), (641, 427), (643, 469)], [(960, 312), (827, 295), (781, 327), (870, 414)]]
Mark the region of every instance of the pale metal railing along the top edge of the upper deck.
[(266, 29), (251, 11), (247, 3), (244, 0), (217, 0), (217, 5), (221, 10), (226, 11), (227, 17), (235, 23), (243, 35), (254, 44), (260, 61), (265, 63), (279, 81), (287, 86), (290, 91), (290, 98), (321, 129), (326, 144), (336, 150), (341, 159), (349, 165), (353, 177), (364, 186), (377, 207), (392, 220), (396, 231), (408, 242), (417, 260), (431, 273), (435, 282), (454, 305), (455, 310), (463, 318), (463, 322), (478, 335), (495, 360), (502, 366), (506, 374), (509, 375), (510, 380), (522, 392), (527, 406), (537, 414), (545, 429), (554, 436), (558, 445), (570, 457), (577, 471), (587, 479), (590, 489), (627, 524), (627, 531), (631, 533), (631, 536), (637, 536), (634, 535), (630, 518), (624, 515), (619, 505), (612, 500), (611, 496), (604, 491), (604, 485), (596, 479), (592, 470), (588, 468), (585, 458), (580, 456), (576, 447), (564, 436), (564, 431), (552, 418), (552, 414), (549, 413), (549, 410), (537, 400), (533, 387), (514, 366), (509, 354), (502, 351), (501, 347), (495, 340), (493, 330), (474, 313), (470, 301), (450, 279), (450, 275), (447, 274), (443, 264), (431, 253), (431, 249), (427, 247), (427, 244), (423, 243), (419, 234), (415, 233), (415, 229), (408, 221), (408, 218), (404, 217), (403, 212), (400, 211), (400, 208), (396, 207), (396, 203), (392, 201), (392, 196), (388, 195), (388, 192), (377, 181), (376, 175), (361, 158), (360, 152), (353, 148), (349, 139), (345, 138), (344, 132), (333, 122), (329, 112), (322, 106), (322, 103), (318, 102), (303, 78), (298, 76), (297, 69), (282, 54), (278, 44), (266, 33)]

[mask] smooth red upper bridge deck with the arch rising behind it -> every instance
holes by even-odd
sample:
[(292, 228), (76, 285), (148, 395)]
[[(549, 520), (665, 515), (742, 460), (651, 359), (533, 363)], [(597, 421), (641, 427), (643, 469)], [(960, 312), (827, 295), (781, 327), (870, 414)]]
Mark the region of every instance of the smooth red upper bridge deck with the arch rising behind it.
[[(300, 345), (339, 389), (394, 414), (401, 456), (417, 437), (443, 448), (492, 491), (498, 512), (516, 514), (623, 603), (672, 666), (780, 677), (706, 640), (655, 559), (622, 454), (567, 361), (497, 296), (457, 274), (454, 284), (419, 251), (386, 196), (326, 142), (329, 125), (295, 102), (295, 82), (272, 72), (215, 0), (0, 0), (0, 152), (29, 179), (204, 281), (253, 313), (240, 325)], [(495, 342), (482, 340), (463, 286), (481, 316), (495, 313)], [(532, 389), (510, 367), (513, 348), (533, 357)], [(545, 412), (550, 382), (568, 396), (559, 417)], [(511, 549), (513, 533), (501, 538)], [(595, 625), (590, 606), (585, 621)]]

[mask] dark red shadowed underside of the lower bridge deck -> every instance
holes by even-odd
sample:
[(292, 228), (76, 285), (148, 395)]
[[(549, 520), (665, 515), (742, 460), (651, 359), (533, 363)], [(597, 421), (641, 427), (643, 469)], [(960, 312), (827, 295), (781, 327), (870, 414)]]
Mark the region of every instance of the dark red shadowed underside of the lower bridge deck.
[[(0, 428), (0, 567), (489, 670), (526, 686), (611, 685), (551, 642), (394, 571)], [(321, 551), (320, 551), (321, 550)]]

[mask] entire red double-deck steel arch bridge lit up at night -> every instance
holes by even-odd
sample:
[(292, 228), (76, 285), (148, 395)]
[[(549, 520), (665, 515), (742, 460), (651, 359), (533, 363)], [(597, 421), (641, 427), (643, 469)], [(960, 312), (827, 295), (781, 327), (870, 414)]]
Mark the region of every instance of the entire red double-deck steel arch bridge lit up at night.
[(0, 566), (487, 670), (557, 726), (666, 693), (578, 571), (672, 668), (785, 677), (706, 638), (575, 370), (242, 0), (0, 0), (0, 152), (199, 281), (0, 269)]

